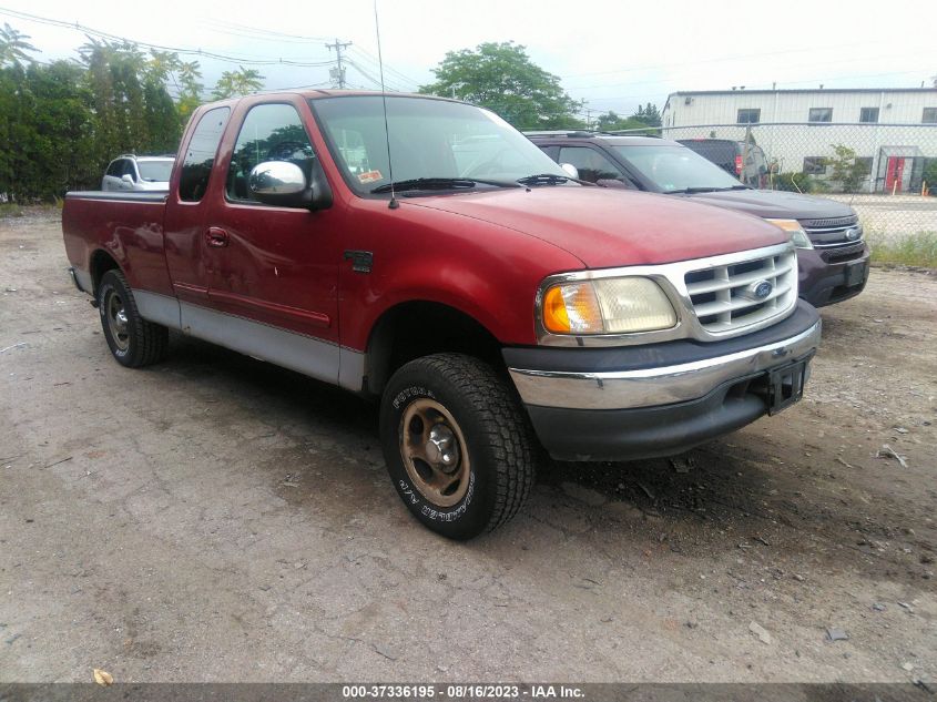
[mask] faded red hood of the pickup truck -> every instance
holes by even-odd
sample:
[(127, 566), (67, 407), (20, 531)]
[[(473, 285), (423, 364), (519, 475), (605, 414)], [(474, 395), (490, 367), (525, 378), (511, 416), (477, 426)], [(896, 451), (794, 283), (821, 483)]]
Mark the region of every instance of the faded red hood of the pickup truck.
[(672, 263), (787, 241), (773, 224), (681, 197), (541, 186), (404, 199), (547, 241), (590, 268)]

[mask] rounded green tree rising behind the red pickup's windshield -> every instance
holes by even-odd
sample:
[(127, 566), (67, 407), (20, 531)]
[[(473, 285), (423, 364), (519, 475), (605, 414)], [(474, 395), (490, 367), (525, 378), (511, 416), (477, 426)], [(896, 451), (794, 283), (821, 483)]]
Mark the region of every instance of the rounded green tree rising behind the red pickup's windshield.
[(524, 47), (513, 42), (482, 43), (475, 50), (450, 51), (434, 69), (436, 82), (426, 94), (458, 98), (493, 110), (518, 129), (582, 126), (560, 79), (534, 64)]

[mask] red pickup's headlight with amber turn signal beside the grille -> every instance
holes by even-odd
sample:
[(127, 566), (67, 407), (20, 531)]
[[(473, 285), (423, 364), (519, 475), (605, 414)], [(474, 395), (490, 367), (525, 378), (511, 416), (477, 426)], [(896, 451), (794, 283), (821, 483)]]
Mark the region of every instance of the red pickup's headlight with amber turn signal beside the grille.
[(661, 287), (636, 276), (554, 285), (543, 295), (541, 318), (552, 334), (630, 334), (676, 325)]

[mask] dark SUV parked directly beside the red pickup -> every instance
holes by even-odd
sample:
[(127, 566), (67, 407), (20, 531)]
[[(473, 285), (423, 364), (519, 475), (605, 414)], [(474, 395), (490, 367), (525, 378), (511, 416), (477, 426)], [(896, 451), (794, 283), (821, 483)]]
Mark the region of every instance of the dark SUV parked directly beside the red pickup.
[(798, 193), (754, 190), (674, 141), (595, 132), (530, 132), (553, 161), (582, 180), (688, 197), (753, 214), (791, 233), (797, 246), (799, 295), (815, 307), (858, 295), (868, 279), (868, 246), (855, 211)]

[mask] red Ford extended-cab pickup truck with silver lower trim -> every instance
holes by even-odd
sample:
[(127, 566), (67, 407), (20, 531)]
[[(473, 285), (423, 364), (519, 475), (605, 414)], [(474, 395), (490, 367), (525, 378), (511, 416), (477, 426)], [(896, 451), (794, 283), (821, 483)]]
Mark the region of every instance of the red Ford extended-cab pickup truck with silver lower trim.
[(175, 329), (379, 398), (397, 491), (457, 539), (517, 512), (540, 446), (662, 456), (783, 409), (819, 340), (778, 227), (581, 184), (445, 99), (204, 105), (169, 192), (69, 193), (62, 228), (120, 364)]

